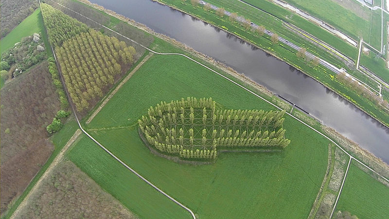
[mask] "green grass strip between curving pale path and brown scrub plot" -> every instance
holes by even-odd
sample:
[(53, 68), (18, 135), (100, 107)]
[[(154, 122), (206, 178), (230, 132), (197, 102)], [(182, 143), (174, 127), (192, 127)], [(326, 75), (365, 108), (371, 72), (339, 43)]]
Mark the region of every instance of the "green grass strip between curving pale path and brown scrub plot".
[(143, 182), (84, 134), (68, 152), (68, 157), (104, 190), (141, 218), (190, 217), (189, 212)]

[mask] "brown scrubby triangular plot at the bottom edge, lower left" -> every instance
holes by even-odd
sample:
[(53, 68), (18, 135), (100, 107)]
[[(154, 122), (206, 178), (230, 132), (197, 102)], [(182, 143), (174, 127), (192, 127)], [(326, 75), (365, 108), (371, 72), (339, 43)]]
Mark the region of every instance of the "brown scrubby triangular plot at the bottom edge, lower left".
[(57, 164), (26, 201), (15, 218), (136, 218), (69, 160)]

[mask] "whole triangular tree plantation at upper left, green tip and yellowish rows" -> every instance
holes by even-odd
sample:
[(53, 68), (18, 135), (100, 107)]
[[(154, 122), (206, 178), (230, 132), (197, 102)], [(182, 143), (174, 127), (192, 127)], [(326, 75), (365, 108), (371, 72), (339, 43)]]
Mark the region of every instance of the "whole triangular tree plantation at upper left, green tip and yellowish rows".
[(78, 111), (85, 111), (126, 72), (136, 51), (50, 5), (42, 4), (42, 12), (71, 99)]

